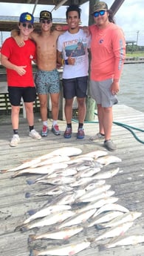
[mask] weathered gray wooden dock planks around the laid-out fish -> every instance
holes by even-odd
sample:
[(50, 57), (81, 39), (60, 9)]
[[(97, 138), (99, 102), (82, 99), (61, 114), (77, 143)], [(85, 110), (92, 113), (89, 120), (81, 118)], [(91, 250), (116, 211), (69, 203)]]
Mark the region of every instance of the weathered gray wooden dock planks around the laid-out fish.
[[(126, 105), (114, 106), (114, 122), (124, 123), (144, 130), (144, 113), (129, 108)], [(49, 128), (52, 125), (48, 120)], [(57, 148), (76, 147), (83, 153), (90, 151), (105, 150), (103, 142), (89, 142), (89, 137), (97, 132), (97, 117), (95, 123), (84, 125), (86, 137), (83, 140), (76, 139), (77, 122), (72, 122), (73, 134), (71, 139), (64, 139), (65, 121), (58, 121), (61, 128), (61, 136), (56, 137), (49, 131), (48, 137), (41, 141), (32, 140), (27, 136), (28, 126), (26, 119), (21, 115), (19, 124), (19, 136), (21, 141), (16, 148), (10, 148), (9, 142), (12, 137), (12, 128), (9, 116), (0, 116), (0, 169), (20, 165), (25, 160), (47, 154)], [(39, 114), (35, 114), (35, 129), (41, 131), (41, 119)], [(137, 137), (144, 142), (144, 133), (133, 130)], [(114, 196), (118, 197), (119, 203), (130, 211), (140, 211), (142, 215), (134, 220), (134, 225), (128, 229), (126, 234), (144, 235), (144, 144), (138, 142), (134, 136), (123, 126), (113, 125), (112, 140), (117, 144), (117, 152), (108, 152), (111, 155), (120, 157), (122, 162), (108, 165), (107, 169), (120, 167), (120, 172), (106, 180), (115, 191)], [(34, 192), (41, 189), (41, 185), (27, 184), (27, 179), (35, 179), (36, 175), (24, 175), (11, 178), (12, 172), (0, 173), (0, 255), (1, 256), (28, 256), (30, 248), (41, 246), (41, 240), (28, 244), (29, 234), (35, 234), (35, 230), (28, 232), (15, 231), (16, 226), (21, 225), (28, 217), (27, 211), (30, 209), (40, 209), (47, 203), (49, 197), (30, 197), (25, 198), (26, 192)], [(76, 234), (68, 241), (45, 240), (43, 246), (63, 245), (75, 242), (79, 239), (97, 237), (102, 231), (97, 231), (95, 226), (86, 229), (84, 232)], [(106, 243), (109, 240), (102, 240)], [(143, 256), (144, 244), (139, 243), (134, 246), (120, 246), (113, 249), (99, 251), (97, 243), (91, 243), (89, 248), (79, 252), (78, 256)]]

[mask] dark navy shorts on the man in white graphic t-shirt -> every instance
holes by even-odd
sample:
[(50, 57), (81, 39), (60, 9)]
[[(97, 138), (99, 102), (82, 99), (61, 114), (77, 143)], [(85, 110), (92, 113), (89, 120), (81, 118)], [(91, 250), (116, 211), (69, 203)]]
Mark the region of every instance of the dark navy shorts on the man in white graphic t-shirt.
[(64, 98), (72, 99), (85, 98), (87, 92), (88, 76), (81, 76), (71, 79), (63, 79)]

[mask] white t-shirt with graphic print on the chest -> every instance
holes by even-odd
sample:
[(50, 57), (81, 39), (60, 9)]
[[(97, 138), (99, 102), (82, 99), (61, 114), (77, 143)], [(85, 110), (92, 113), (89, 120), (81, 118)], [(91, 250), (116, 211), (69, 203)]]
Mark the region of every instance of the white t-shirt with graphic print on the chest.
[(64, 65), (64, 79), (88, 76), (90, 41), (90, 36), (87, 36), (81, 29), (78, 33), (66, 31), (59, 36), (58, 51), (62, 52), (63, 59), (68, 59), (69, 56), (75, 58), (75, 65)]

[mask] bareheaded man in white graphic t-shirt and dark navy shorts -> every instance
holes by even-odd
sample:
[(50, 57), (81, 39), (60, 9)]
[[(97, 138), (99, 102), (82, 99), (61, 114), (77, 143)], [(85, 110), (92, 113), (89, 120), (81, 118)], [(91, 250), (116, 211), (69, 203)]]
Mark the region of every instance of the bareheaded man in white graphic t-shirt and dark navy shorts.
[(66, 10), (68, 30), (58, 38), (58, 63), (64, 65), (63, 87), (65, 98), (66, 139), (72, 136), (72, 104), (74, 97), (78, 101), (78, 134), (83, 139), (83, 122), (86, 116), (86, 91), (88, 83), (90, 36), (80, 29), (78, 5), (70, 5)]

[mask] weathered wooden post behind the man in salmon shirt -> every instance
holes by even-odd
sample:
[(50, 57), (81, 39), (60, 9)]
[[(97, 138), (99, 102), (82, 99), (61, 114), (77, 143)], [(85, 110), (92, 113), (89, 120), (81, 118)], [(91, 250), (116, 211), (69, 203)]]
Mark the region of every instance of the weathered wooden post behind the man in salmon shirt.
[[(99, 0), (98, 0), (99, 1)], [(89, 0), (89, 25), (94, 23), (94, 18), (92, 16), (93, 6), (97, 0)], [(91, 56), (89, 55), (89, 77), (90, 77), (90, 62), (91, 62)], [(95, 119), (95, 100), (92, 99), (89, 93), (89, 81), (88, 81), (88, 96), (86, 97), (86, 118), (85, 120), (87, 122), (94, 121)]]

